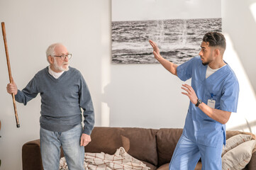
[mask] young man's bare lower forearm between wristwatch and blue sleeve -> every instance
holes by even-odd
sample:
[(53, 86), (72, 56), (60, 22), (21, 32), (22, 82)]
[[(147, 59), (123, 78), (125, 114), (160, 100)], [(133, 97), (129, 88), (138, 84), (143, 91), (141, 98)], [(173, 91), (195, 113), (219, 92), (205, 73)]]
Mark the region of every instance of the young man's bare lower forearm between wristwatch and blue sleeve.
[(216, 108), (211, 108), (211, 107), (207, 106), (205, 103), (199, 104), (199, 108), (210, 118), (218, 121), (221, 124), (226, 124), (230, 118), (231, 112), (221, 111)]

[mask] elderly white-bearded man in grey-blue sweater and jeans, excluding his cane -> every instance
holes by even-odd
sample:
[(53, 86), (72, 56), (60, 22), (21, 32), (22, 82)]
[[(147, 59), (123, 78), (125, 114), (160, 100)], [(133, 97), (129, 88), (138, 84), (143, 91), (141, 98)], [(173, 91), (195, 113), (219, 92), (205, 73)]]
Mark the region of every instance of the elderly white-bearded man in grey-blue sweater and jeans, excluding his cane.
[[(14, 81), (6, 89), (9, 94), (15, 94), (16, 101), (24, 105), (40, 93), (43, 168), (59, 168), (62, 147), (69, 169), (82, 170), (84, 146), (91, 141), (94, 127), (94, 107), (89, 89), (82, 74), (69, 67), (72, 55), (64, 45), (50, 45), (46, 56), (50, 66), (35, 74), (25, 89), (18, 90)], [(81, 108), (84, 110), (84, 128)]]

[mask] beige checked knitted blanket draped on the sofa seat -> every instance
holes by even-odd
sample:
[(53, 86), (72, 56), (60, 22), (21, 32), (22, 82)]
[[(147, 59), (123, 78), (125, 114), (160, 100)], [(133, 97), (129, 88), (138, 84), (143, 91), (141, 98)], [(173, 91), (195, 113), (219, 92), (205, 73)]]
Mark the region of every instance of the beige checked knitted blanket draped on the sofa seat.
[[(67, 170), (67, 162), (65, 157), (60, 159), (60, 170)], [(143, 162), (135, 159), (126, 152), (123, 147), (116, 150), (116, 153), (105, 154), (101, 153), (85, 153), (84, 154), (84, 169), (85, 170), (101, 170), (101, 169), (142, 169), (148, 170)]]

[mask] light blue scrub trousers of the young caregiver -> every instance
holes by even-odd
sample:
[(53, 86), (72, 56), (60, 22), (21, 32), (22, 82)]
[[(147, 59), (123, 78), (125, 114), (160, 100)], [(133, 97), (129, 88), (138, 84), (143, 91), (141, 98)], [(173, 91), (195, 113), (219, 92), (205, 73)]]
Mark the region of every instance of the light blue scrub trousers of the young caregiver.
[(216, 144), (216, 147), (206, 147), (192, 142), (182, 134), (172, 155), (169, 170), (194, 170), (200, 157), (202, 170), (221, 170), (222, 149), (223, 142)]

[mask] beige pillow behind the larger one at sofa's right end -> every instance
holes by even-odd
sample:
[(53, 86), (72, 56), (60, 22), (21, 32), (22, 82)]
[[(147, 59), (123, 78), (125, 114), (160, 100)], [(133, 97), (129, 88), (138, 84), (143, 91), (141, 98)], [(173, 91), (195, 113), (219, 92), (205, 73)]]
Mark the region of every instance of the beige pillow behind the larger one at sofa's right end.
[(230, 149), (233, 149), (243, 142), (252, 140), (251, 135), (235, 135), (226, 140), (226, 147), (223, 147), (221, 157), (226, 154)]

